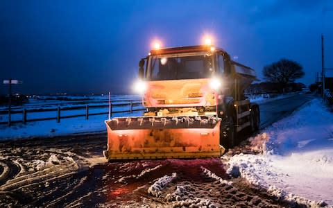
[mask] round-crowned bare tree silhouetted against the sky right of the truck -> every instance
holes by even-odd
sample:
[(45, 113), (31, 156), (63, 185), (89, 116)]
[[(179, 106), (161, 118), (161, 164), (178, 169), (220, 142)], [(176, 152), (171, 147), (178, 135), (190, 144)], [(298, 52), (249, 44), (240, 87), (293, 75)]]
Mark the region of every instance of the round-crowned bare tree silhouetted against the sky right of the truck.
[(298, 62), (284, 58), (264, 67), (263, 73), (266, 80), (277, 83), (282, 89), (305, 74)]

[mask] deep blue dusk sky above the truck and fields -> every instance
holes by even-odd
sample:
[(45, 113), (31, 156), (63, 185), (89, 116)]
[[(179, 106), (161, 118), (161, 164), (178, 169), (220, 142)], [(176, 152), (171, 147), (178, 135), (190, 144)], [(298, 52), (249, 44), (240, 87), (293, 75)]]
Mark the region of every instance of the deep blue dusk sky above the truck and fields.
[(151, 42), (201, 43), (203, 35), (256, 70), (287, 58), (314, 83), (333, 68), (333, 1), (0, 1), (0, 94), (130, 93)]

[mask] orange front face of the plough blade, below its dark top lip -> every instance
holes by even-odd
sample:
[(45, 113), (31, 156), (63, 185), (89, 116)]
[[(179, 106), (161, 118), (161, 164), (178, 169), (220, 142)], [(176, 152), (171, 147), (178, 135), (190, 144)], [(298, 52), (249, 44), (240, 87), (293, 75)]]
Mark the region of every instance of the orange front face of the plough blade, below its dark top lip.
[(108, 159), (219, 157), (220, 123), (211, 128), (112, 130), (108, 121)]

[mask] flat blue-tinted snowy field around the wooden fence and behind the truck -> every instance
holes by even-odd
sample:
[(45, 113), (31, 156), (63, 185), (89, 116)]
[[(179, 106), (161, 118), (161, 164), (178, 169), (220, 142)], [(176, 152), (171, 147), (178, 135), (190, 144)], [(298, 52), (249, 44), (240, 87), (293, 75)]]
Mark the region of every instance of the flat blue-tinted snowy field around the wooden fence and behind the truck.
[[(293, 96), (293, 94), (287, 95), (280, 95), (276, 96), (275, 98), (269, 98), (264, 96), (255, 96), (250, 98), (251, 101), (257, 103), (264, 103), (266, 101), (272, 101), (281, 98), (287, 98), (288, 96)], [(46, 97), (47, 98), (47, 97)], [(37, 101), (32, 101), (27, 103), (21, 107), (15, 107), (16, 110), (22, 110), (22, 108), (26, 109), (47, 109), (47, 108), (54, 108), (57, 106), (62, 107), (69, 107), (69, 106), (80, 106), (83, 105), (82, 101), (56, 101), (54, 100), (43, 100), (42, 98)], [(81, 97), (77, 96), (69, 96), (71, 99), (78, 99)], [(85, 98), (85, 97), (83, 97)], [(84, 101), (86, 103), (101, 103), (107, 102), (108, 96), (93, 96), (87, 97), (89, 100)], [(139, 101), (139, 96), (133, 95), (119, 95), (119, 96), (112, 96), (111, 98), (112, 103), (121, 103), (122, 101), (126, 100), (135, 100)], [(106, 103), (107, 104), (107, 103)], [(104, 104), (105, 105), (105, 104)], [(85, 104), (83, 105), (85, 106)], [(6, 107), (2, 107), (2, 110), (5, 110)], [(142, 106), (133, 107), (133, 109), (142, 108)], [(0, 107), (1, 110), (1, 107)], [(121, 110), (128, 110), (128, 106), (125, 107), (117, 107), (112, 108), (114, 111), (121, 111)], [(95, 112), (108, 112), (108, 109), (96, 109), (96, 110), (89, 110), (89, 113)], [(70, 115), (70, 114), (85, 114), (85, 110), (70, 110), (70, 111), (63, 111), (61, 112), (62, 116)], [(141, 116), (142, 112), (133, 112), (133, 114), (128, 113), (118, 113), (112, 114), (112, 116)], [(0, 116), (1, 117), (1, 116)], [(13, 115), (13, 120), (22, 119), (22, 114), (15, 114)], [(56, 117), (56, 112), (35, 112), (35, 113), (28, 113), (28, 119), (36, 119), (36, 118), (46, 118), (46, 117)], [(6, 121), (7, 115), (2, 115), (2, 121)], [(97, 115), (97, 116), (89, 116), (88, 120), (85, 120), (84, 116), (71, 118), (71, 119), (61, 119), (60, 123), (57, 123), (56, 119), (49, 120), (49, 121), (35, 121), (35, 122), (28, 122), (26, 124), (17, 123), (12, 125), (10, 128), (8, 125), (0, 125), (0, 140), (3, 139), (18, 139), (18, 138), (29, 138), (29, 137), (53, 137), (59, 135), (68, 135), (68, 134), (78, 134), (78, 133), (87, 133), (87, 132), (101, 132), (105, 131), (105, 123), (104, 121), (108, 119), (108, 115)]]

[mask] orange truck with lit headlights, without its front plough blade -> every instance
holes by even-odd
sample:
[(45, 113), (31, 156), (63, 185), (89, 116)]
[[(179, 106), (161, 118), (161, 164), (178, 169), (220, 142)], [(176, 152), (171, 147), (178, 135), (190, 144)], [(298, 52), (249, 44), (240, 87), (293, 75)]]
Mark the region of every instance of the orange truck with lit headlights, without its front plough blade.
[(244, 96), (244, 89), (256, 79), (255, 71), (230, 60), (223, 49), (206, 45), (154, 49), (141, 63), (145, 63), (141, 65), (145, 116), (218, 116), (225, 121), (221, 128), (234, 129), (231, 137), (244, 128), (259, 128), (259, 107)]

